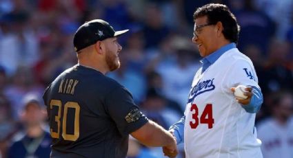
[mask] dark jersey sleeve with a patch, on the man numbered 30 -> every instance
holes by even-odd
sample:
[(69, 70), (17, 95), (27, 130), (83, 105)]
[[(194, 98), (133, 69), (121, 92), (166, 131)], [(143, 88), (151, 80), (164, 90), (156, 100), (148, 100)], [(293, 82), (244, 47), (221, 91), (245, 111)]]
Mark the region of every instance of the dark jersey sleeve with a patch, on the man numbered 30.
[(105, 109), (116, 123), (121, 135), (128, 135), (148, 122), (148, 118), (134, 104), (132, 95), (124, 87), (117, 87), (108, 93), (105, 98)]

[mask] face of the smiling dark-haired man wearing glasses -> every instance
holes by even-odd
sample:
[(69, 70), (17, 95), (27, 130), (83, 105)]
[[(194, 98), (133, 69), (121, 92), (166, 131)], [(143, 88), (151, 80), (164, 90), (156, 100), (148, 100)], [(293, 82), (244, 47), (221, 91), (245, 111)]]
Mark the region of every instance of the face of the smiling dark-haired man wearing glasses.
[(202, 57), (212, 54), (216, 51), (214, 45), (216, 38), (215, 25), (208, 23), (208, 17), (202, 16), (195, 19), (192, 42), (199, 49), (199, 54)]

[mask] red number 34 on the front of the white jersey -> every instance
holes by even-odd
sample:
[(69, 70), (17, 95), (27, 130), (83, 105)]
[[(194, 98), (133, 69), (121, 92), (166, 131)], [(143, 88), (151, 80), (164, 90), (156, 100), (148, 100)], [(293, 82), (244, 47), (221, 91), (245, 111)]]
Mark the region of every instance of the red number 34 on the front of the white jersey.
[(197, 126), (199, 126), (199, 123), (208, 124), (208, 128), (212, 128), (212, 125), (214, 124), (214, 118), (212, 117), (212, 104), (207, 104), (205, 106), (205, 109), (203, 110), (200, 119), (199, 108), (196, 104), (192, 104), (190, 111), (194, 111), (194, 113), (192, 113), (192, 121), (189, 122), (191, 128), (196, 128)]

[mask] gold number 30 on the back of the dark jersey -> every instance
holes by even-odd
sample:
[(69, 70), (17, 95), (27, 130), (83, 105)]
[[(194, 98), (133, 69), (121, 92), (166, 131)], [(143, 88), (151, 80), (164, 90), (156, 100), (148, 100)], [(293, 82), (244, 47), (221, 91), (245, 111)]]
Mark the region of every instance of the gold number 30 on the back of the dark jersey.
[[(59, 139), (59, 133), (60, 133), (60, 126), (62, 121), (62, 137), (64, 140), (69, 141), (76, 141), (79, 138), (79, 112), (81, 107), (77, 102), (66, 102), (63, 106), (63, 117), (61, 118), (61, 100), (51, 100), (50, 102), (50, 109), (53, 109), (53, 106), (57, 106), (58, 113), (55, 115), (55, 117), (52, 117), (51, 119), (54, 119), (54, 122), (57, 122), (57, 132), (53, 131), (52, 128), (50, 128), (51, 137)], [(67, 123), (67, 115), (68, 115), (68, 109), (74, 109), (74, 133), (68, 134), (66, 133), (66, 123)]]

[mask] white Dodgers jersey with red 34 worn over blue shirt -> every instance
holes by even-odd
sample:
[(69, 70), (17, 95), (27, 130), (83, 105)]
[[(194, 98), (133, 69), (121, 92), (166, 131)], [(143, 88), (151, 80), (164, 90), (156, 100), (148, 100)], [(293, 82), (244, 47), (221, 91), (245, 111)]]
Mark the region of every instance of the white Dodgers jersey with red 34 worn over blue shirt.
[(250, 58), (233, 48), (203, 74), (201, 69), (185, 109), (186, 157), (262, 157), (254, 130), (256, 114), (247, 113), (231, 91), (239, 84), (259, 87)]

